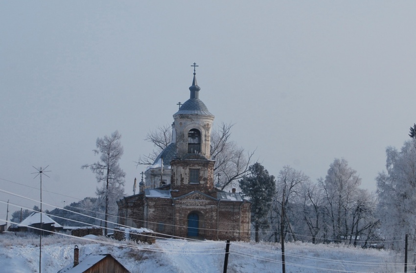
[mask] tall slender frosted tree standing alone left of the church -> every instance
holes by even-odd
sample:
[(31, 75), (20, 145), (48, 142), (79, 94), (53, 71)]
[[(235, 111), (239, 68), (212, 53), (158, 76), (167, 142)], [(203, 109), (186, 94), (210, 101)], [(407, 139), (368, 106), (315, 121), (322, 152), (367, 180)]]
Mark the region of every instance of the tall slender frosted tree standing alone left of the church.
[(100, 155), (100, 160), (93, 164), (82, 165), (81, 168), (90, 168), (95, 173), (98, 183), (102, 183), (101, 187), (97, 187), (97, 195), (104, 199), (105, 215), (104, 215), (104, 234), (107, 235), (107, 224), (109, 213), (109, 204), (116, 204), (119, 193), (123, 192), (125, 172), (120, 168), (118, 161), (123, 155), (123, 146), (120, 143), (121, 135), (118, 131), (111, 134), (110, 137), (98, 137), (96, 141), (97, 149), (93, 150), (95, 155)]

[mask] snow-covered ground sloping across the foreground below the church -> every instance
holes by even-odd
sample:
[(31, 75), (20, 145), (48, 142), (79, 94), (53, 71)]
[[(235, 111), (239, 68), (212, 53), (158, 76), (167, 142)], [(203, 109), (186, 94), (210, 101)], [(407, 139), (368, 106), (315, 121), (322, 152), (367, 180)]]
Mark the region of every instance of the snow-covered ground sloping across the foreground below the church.
[[(56, 273), (73, 263), (75, 245), (80, 249), (80, 262), (85, 255), (110, 253), (132, 273), (223, 272), (226, 243), (222, 241), (160, 239), (154, 245), (144, 245), (86, 237), (57, 234), (44, 237), (42, 273)], [(39, 237), (3, 233), (0, 250), (0, 272), (39, 272)], [(286, 243), (285, 252), (287, 273), (403, 272), (402, 255), (393, 251)], [(280, 244), (231, 242), (227, 272), (281, 272)], [(414, 272), (413, 265), (408, 272)]]

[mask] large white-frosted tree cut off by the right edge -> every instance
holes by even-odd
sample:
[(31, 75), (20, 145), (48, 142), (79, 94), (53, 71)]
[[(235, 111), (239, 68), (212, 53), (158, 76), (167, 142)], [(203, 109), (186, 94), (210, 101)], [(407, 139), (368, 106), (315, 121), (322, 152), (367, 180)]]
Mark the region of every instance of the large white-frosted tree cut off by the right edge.
[(397, 249), (405, 234), (411, 245), (416, 240), (416, 139), (406, 141), (400, 151), (388, 147), (386, 156), (387, 172), (376, 177), (377, 210), (386, 244)]

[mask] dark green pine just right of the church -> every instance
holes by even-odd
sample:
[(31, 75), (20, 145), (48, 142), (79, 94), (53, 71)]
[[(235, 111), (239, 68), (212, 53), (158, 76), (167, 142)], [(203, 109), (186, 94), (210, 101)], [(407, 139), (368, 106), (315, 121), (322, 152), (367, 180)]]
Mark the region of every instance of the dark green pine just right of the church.
[(272, 206), (276, 192), (275, 177), (260, 164), (254, 163), (249, 167), (250, 175), (239, 181), (241, 193), (253, 202), (251, 221), (255, 228), (255, 241), (258, 242), (260, 226), (269, 224), (267, 215)]

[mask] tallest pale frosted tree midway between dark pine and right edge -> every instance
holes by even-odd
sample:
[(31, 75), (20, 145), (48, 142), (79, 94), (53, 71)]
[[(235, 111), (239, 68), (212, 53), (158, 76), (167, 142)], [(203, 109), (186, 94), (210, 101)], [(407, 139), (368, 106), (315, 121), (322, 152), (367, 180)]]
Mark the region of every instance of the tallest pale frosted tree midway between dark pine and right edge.
[(330, 220), (333, 239), (340, 242), (351, 232), (348, 215), (358, 193), (361, 178), (357, 171), (348, 166), (346, 159), (334, 159), (325, 180), (321, 180), (324, 190), (325, 211)]

